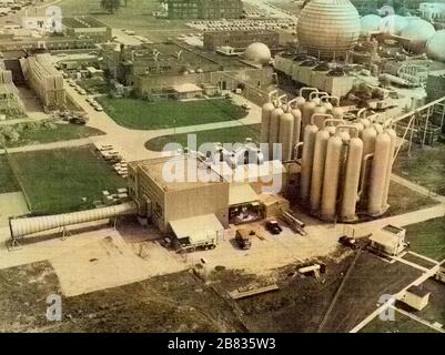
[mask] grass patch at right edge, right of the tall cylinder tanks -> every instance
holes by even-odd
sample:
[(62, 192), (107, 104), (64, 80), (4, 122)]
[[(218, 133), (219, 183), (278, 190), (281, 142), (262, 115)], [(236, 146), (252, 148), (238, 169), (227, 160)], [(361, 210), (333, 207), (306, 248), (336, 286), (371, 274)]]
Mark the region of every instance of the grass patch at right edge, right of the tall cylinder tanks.
[(412, 156), (401, 153), (394, 172), (424, 187), (445, 195), (445, 144), (413, 149)]

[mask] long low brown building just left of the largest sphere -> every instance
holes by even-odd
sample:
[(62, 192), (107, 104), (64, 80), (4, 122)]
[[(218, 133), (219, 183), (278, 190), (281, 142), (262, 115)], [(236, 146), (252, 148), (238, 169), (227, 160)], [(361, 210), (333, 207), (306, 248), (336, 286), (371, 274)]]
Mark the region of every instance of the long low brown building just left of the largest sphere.
[(252, 43), (260, 42), (274, 50), (280, 47), (280, 34), (275, 31), (211, 31), (204, 33), (204, 50), (216, 51), (231, 47), (237, 52), (244, 51)]

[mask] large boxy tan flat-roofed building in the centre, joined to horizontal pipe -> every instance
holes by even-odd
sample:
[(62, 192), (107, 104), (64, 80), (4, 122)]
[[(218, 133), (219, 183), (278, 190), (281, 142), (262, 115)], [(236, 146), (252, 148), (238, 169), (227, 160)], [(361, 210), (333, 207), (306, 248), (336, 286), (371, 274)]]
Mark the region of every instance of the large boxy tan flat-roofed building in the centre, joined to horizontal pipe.
[[(189, 155), (133, 162), (129, 164), (129, 193), (140, 216), (163, 233), (171, 232), (172, 222), (184, 225), (182, 221), (190, 219), (216, 219), (224, 227), (254, 222), (270, 214), (267, 206), (274, 207), (262, 203), (261, 184), (286, 180), (286, 170), (279, 161), (254, 166), (233, 170), (225, 163), (209, 164)], [(239, 179), (234, 180), (235, 175)], [(280, 184), (277, 192), (285, 187), (285, 183)]]

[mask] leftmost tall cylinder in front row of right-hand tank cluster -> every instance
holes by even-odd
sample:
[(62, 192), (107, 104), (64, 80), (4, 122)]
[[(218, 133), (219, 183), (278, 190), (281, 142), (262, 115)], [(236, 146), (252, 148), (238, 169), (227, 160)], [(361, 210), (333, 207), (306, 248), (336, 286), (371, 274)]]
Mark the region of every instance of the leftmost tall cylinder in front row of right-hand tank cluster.
[(316, 133), (318, 133), (318, 128), (315, 124), (309, 124), (304, 129), (304, 145), (300, 182), (303, 203), (306, 203), (309, 201), (309, 196), (311, 193), (312, 166), (314, 163)]

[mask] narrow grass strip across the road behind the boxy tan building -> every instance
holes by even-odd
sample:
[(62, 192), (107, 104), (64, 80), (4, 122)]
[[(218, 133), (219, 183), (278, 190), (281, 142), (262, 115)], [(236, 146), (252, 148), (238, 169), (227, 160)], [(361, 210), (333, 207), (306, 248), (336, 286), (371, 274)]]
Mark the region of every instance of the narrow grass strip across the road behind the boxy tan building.
[[(203, 143), (242, 143), (246, 138), (257, 140), (260, 128), (260, 124), (250, 124), (196, 132), (198, 148)], [(160, 152), (168, 143), (178, 143), (185, 148), (188, 146), (188, 134), (159, 136), (146, 142), (145, 148), (150, 151)]]

